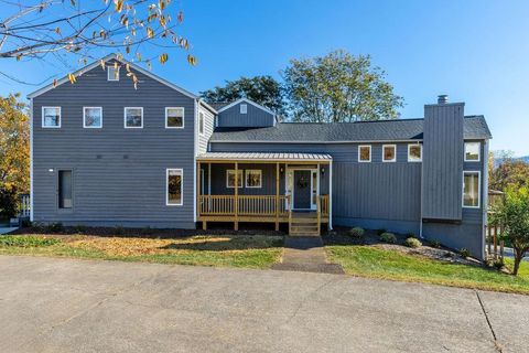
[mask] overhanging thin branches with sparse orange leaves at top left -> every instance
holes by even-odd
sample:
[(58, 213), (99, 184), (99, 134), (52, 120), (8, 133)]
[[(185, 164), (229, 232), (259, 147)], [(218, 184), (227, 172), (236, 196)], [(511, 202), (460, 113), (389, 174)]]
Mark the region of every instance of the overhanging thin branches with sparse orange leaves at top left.
[[(196, 62), (187, 40), (176, 33), (183, 14), (171, 0), (2, 1), (2, 13), (0, 58), (45, 61), (55, 56), (65, 63), (67, 54), (86, 64), (111, 51), (150, 66), (154, 58), (165, 63), (169, 50), (183, 49), (190, 64)], [(7, 72), (0, 74), (20, 82)], [(136, 84), (136, 76), (129, 76)], [(75, 82), (73, 75), (68, 77)]]

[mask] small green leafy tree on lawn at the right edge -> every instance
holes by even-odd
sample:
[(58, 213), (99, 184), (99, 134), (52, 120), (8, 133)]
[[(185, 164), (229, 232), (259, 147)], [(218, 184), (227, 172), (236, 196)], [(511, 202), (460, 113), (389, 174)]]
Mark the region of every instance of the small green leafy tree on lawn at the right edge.
[(529, 188), (509, 186), (505, 201), (495, 207), (498, 221), (515, 252), (512, 275), (518, 275), (520, 263), (529, 250)]

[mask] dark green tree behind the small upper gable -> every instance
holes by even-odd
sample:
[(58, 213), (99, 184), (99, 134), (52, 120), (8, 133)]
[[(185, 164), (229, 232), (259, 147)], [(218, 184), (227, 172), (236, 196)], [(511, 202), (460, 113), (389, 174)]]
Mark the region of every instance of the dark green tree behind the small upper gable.
[(281, 84), (269, 75), (226, 81), (224, 87), (217, 86), (213, 89), (201, 92), (201, 96), (208, 103), (234, 101), (239, 98), (248, 98), (277, 114), (284, 111)]

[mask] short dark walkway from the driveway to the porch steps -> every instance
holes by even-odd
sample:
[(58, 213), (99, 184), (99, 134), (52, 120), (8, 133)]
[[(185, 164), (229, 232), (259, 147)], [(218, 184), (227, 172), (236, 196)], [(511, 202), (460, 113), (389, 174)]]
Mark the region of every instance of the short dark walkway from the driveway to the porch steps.
[(320, 236), (287, 236), (281, 263), (273, 265), (272, 269), (344, 274), (342, 266), (327, 261), (325, 248)]

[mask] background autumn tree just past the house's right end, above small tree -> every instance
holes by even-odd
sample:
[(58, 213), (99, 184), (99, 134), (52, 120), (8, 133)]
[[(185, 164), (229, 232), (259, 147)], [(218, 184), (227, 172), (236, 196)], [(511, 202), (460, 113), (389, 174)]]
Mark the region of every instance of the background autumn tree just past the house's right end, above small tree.
[(497, 165), (489, 171), (490, 189), (504, 191), (509, 185), (529, 186), (529, 163), (515, 159), (511, 151), (498, 151), (496, 154)]

